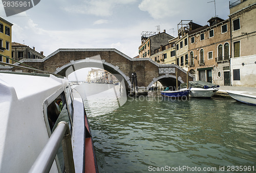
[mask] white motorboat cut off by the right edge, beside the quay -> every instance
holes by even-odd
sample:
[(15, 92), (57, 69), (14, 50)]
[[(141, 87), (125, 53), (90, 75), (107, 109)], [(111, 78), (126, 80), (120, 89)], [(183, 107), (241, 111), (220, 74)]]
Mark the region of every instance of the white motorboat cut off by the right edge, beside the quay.
[(226, 92), (232, 98), (234, 98), (234, 100), (256, 106), (256, 92), (235, 91), (235, 90), (227, 90)]

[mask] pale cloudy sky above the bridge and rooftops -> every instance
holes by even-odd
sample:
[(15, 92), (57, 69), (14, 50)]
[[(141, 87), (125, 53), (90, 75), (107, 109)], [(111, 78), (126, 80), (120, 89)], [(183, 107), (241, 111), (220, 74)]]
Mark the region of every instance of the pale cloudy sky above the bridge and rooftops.
[[(13, 23), (12, 42), (25, 43), (47, 56), (58, 48), (116, 48), (138, 55), (142, 31), (177, 36), (181, 20), (204, 26), (215, 16), (212, 0), (41, 0), (35, 7), (6, 17)], [(216, 0), (217, 16), (228, 18), (229, 1)]]

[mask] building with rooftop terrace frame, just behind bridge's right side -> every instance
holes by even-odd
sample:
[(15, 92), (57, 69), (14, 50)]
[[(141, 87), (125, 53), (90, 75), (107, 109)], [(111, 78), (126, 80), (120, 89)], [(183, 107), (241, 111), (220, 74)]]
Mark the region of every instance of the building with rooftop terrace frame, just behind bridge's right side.
[(155, 50), (159, 48), (160, 45), (168, 44), (168, 41), (173, 38), (173, 36), (165, 33), (165, 30), (158, 34), (156, 34), (156, 32), (142, 32), (141, 45), (139, 46), (139, 58), (150, 58), (155, 54)]

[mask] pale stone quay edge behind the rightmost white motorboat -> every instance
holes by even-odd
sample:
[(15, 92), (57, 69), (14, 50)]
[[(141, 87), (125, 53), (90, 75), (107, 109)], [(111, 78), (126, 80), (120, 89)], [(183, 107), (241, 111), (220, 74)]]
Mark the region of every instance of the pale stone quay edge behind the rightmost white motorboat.
[(230, 97), (227, 90), (237, 90), (237, 91), (250, 91), (256, 92), (256, 87), (242, 87), (242, 86), (220, 86), (215, 97)]

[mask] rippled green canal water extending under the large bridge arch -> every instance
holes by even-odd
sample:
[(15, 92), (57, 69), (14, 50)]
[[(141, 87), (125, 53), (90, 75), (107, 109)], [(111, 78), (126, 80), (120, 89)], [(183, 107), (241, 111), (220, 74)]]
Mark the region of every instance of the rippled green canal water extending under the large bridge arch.
[(76, 89), (87, 103), (99, 172), (256, 171), (255, 106), (156, 92), (126, 97), (109, 84)]

